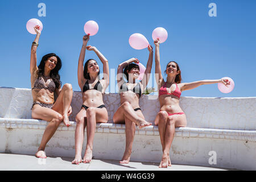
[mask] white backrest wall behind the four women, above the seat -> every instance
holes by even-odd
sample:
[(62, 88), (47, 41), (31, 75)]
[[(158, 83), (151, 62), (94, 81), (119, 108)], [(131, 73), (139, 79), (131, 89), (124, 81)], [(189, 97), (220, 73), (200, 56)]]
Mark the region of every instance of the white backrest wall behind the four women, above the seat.
[[(31, 118), (31, 89), (0, 88), (0, 101), (0, 117)], [(119, 94), (104, 94), (104, 103), (109, 113), (108, 122), (113, 123), (114, 112), (120, 105)], [(139, 104), (146, 120), (153, 123), (160, 107), (158, 97), (142, 95)], [(71, 121), (75, 121), (81, 105), (81, 92), (74, 92)], [(181, 97), (180, 106), (187, 116), (187, 127), (256, 130), (256, 97)]]

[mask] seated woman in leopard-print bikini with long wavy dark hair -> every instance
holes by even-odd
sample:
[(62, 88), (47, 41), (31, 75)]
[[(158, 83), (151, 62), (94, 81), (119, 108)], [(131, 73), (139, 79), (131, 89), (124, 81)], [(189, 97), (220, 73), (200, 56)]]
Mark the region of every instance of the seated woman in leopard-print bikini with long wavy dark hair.
[[(61, 60), (55, 53), (49, 53), (43, 56), (39, 66), (36, 65), (36, 48), (40, 37), (39, 27), (34, 27), (36, 38), (31, 47), (30, 73), (33, 104), (31, 107), (32, 118), (48, 121), (46, 130), (44, 131), (42, 141), (36, 152), (36, 157), (46, 158), (44, 149), (57, 130), (61, 121), (69, 126), (68, 116), (72, 113), (71, 100), (73, 90), (71, 84), (63, 85), (61, 82), (59, 70), (61, 68)], [(57, 94), (57, 100), (54, 102), (54, 92)]]

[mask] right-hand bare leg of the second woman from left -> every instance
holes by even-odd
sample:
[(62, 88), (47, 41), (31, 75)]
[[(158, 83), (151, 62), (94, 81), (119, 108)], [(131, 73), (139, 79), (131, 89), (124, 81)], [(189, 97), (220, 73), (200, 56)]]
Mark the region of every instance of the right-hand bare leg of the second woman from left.
[(96, 123), (108, 122), (108, 111), (106, 108), (89, 107), (86, 110), (87, 117), (87, 143), (84, 154), (84, 163), (90, 163), (92, 160), (93, 139), (96, 130)]

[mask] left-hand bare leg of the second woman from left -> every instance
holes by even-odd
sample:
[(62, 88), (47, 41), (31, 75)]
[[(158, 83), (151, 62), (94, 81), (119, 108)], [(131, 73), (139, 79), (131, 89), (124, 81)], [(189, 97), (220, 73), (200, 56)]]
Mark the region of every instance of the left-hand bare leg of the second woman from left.
[(76, 115), (76, 131), (75, 131), (75, 159), (72, 164), (80, 164), (82, 162), (82, 143), (84, 142), (84, 129), (86, 127), (86, 110), (82, 108)]

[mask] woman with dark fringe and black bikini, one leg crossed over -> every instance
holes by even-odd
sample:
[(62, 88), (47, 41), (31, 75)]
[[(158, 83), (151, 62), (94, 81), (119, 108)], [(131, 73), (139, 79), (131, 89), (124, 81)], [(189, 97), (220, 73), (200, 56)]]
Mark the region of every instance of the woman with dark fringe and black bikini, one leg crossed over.
[[(131, 148), (135, 134), (135, 126), (139, 128), (150, 126), (151, 123), (145, 121), (141, 108), (139, 107), (139, 98), (146, 89), (147, 82), (150, 78), (152, 68), (153, 51), (152, 47), (148, 46), (149, 56), (147, 68), (141, 82), (135, 84), (135, 80), (139, 77), (139, 66), (134, 63), (139, 63), (138, 59), (132, 58), (118, 65), (117, 84), (120, 93), (121, 106), (113, 116), (114, 123), (125, 123), (126, 146), (125, 154), (119, 163), (127, 164), (130, 161)], [(123, 71), (123, 68), (125, 70)], [(128, 82), (123, 81), (123, 73)]]

